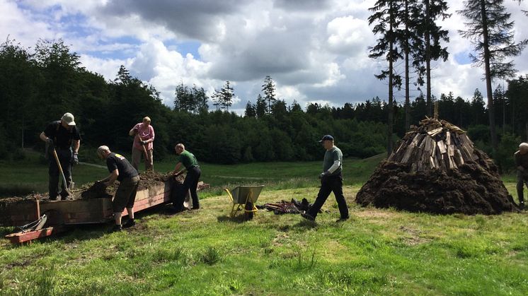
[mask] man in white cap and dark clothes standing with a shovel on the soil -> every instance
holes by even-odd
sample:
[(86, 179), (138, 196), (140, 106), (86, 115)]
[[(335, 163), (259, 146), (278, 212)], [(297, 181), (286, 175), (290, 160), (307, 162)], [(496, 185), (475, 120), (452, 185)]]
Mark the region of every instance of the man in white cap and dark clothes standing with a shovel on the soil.
[[(68, 191), (71, 184), (71, 165), (79, 163), (79, 146), (81, 144), (81, 136), (79, 129), (75, 125), (74, 115), (71, 113), (64, 113), (60, 120), (51, 122), (46, 126), (46, 129), (40, 133), (40, 139), (45, 141), (48, 148), (55, 149), (59, 158), (64, 177), (67, 184), (62, 184), (62, 192), (60, 196), (62, 200), (68, 198)], [(72, 150), (73, 144), (73, 150)], [(59, 167), (57, 161), (53, 156), (50, 156), (50, 200), (57, 199), (59, 194)]]

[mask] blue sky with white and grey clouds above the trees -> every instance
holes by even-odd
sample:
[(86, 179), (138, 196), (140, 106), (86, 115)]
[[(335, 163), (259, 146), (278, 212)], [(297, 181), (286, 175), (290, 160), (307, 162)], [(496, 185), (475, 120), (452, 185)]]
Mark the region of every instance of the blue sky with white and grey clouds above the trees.
[[(132, 76), (154, 85), (169, 107), (180, 83), (195, 84), (210, 95), (230, 81), (236, 96), (230, 110), (243, 114), (248, 100), (255, 103), (263, 94), (268, 75), (277, 98), (287, 104), (342, 107), (387, 97), (388, 83), (374, 77), (386, 63), (368, 57), (377, 39), (367, 22), (374, 3), (0, 0), (0, 37), (23, 47), (62, 39), (88, 71), (113, 80), (124, 65)], [(485, 93), (483, 69), (471, 66), (473, 45), (458, 32), (466, 29), (457, 13), (462, 1), (447, 4), (452, 16), (440, 25), (449, 30), (449, 43), (444, 43), (449, 59), (432, 63), (432, 95), (453, 92), (469, 100), (476, 88)], [(528, 10), (528, 1), (505, 0), (505, 6), (515, 21), (515, 40), (527, 39), (528, 17), (522, 10)], [(518, 75), (528, 74), (528, 49), (512, 59)], [(396, 92), (396, 101), (403, 102), (404, 95)], [(411, 97), (416, 95), (411, 85)]]

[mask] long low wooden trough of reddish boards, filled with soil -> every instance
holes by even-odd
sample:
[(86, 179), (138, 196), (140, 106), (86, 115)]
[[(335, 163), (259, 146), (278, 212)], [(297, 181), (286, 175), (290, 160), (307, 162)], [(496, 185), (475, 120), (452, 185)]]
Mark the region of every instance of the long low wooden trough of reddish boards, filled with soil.
[[(134, 213), (171, 202), (169, 182), (159, 183), (137, 191)], [(112, 200), (109, 198), (75, 199), (69, 201), (25, 200), (4, 203), (0, 208), (0, 226), (21, 226), (46, 215), (46, 228), (6, 235), (13, 243), (28, 242), (59, 232), (65, 225), (107, 223), (113, 220)], [(122, 213), (128, 215), (126, 209)]]

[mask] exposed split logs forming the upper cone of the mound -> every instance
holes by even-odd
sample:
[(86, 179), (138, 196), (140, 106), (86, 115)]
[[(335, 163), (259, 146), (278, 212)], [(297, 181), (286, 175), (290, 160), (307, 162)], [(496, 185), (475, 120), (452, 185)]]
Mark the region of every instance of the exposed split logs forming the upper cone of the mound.
[(389, 161), (411, 165), (411, 172), (453, 170), (478, 160), (466, 132), (444, 120), (426, 117), (403, 137)]

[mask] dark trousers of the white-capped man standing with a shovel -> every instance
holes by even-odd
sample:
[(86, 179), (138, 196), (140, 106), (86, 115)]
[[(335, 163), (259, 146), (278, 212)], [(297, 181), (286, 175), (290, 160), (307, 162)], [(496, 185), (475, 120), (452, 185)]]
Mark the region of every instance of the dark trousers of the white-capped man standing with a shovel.
[[(62, 179), (62, 176), (60, 176), (57, 161), (52, 153), (50, 154), (50, 169), (48, 170), (48, 174), (50, 174), (48, 189), (50, 190), (50, 199), (57, 199), (57, 195), (59, 195), (59, 179)], [(69, 188), (69, 184), (71, 183), (71, 160), (73, 160), (73, 153), (71, 149), (57, 149), (57, 156), (59, 157), (64, 177), (66, 177), (66, 184), (64, 184), (64, 181), (62, 182), (62, 192), (60, 193), (60, 196), (65, 198), (68, 196), (65, 187)]]

